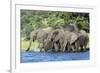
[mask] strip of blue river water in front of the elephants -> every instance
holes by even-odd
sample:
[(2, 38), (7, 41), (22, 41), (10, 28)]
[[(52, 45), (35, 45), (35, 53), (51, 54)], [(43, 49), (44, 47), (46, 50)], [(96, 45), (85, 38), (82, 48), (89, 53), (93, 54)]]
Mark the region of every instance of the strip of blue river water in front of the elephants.
[(49, 61), (72, 61), (72, 60), (89, 60), (89, 51), (73, 52), (73, 53), (47, 53), (47, 52), (32, 52), (21, 51), (20, 62), (49, 62)]

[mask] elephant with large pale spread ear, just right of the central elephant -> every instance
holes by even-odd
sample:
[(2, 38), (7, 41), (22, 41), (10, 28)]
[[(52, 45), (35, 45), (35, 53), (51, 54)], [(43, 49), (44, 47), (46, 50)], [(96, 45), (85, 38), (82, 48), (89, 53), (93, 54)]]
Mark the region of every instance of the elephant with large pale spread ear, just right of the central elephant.
[(75, 32), (65, 31), (65, 40), (63, 45), (64, 51), (76, 51), (74, 46), (75, 41), (78, 39), (78, 35)]

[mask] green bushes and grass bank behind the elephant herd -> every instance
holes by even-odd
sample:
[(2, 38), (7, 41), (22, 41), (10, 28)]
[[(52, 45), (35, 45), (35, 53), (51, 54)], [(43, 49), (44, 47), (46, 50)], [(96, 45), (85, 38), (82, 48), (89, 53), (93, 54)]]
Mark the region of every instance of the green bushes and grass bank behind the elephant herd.
[[(75, 23), (79, 29), (89, 33), (89, 13), (21, 10), (21, 49), (25, 50), (29, 44), (29, 34), (32, 30)], [(24, 38), (24, 39), (22, 39)], [(37, 47), (34, 42), (32, 47)]]

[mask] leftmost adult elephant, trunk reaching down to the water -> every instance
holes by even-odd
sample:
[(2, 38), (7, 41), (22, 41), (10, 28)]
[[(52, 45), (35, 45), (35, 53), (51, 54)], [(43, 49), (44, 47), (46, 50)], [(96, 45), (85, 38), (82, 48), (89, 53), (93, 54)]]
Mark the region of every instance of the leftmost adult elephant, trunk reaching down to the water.
[(38, 48), (40, 48), (40, 51), (44, 50), (43, 49), (43, 47), (44, 47), (44, 41), (48, 37), (48, 34), (50, 33), (51, 30), (52, 30), (52, 28), (48, 27), (48, 28), (40, 28), (40, 29), (32, 31), (30, 33), (29, 46), (28, 46), (28, 49), (26, 51), (30, 50), (31, 44), (35, 40), (37, 40), (38, 43), (39, 43)]

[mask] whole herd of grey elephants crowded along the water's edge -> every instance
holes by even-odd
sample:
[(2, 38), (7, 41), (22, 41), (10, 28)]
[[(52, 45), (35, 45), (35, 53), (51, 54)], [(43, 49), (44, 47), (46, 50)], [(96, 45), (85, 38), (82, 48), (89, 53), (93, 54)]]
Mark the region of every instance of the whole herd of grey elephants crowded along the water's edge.
[(86, 51), (89, 42), (88, 33), (79, 30), (75, 24), (59, 27), (39, 28), (30, 33), (29, 46), (38, 41), (40, 52), (79, 52)]

